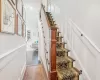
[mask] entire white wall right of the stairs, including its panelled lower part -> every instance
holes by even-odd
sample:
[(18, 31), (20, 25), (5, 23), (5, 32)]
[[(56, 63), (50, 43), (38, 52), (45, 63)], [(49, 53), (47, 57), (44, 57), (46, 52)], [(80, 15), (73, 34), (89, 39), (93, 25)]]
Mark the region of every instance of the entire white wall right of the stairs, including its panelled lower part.
[(77, 60), (75, 66), (83, 70), (80, 80), (99, 80), (100, 1), (52, 0), (50, 10)]

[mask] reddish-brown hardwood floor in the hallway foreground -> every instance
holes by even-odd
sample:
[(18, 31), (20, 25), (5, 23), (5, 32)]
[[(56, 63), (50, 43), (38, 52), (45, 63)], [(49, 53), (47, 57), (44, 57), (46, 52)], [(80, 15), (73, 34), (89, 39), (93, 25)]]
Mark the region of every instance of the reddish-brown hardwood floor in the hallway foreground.
[(27, 66), (23, 80), (48, 80), (41, 64)]

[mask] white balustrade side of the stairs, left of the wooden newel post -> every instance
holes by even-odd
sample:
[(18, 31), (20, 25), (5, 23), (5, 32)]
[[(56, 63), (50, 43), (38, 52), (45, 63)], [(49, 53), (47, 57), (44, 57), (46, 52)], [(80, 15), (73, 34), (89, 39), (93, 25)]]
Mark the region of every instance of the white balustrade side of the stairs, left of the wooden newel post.
[(48, 72), (50, 71), (49, 63), (50, 63), (51, 30), (49, 29), (43, 8), (41, 9), (41, 15), (42, 15), (41, 20), (38, 21), (38, 30), (39, 30), (38, 52), (40, 60), (43, 63), (45, 72), (49, 79)]

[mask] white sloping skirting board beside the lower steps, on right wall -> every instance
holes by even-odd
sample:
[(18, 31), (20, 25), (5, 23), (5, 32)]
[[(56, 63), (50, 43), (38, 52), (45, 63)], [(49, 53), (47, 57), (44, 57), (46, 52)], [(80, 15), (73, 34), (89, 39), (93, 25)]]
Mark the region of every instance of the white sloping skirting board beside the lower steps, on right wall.
[(83, 67), (80, 59), (78, 58), (78, 56), (76, 55), (76, 52), (72, 49), (70, 43), (69, 43), (69, 40), (67, 40), (67, 43), (68, 43), (68, 46), (69, 48), (71, 49), (71, 52), (73, 53), (73, 55), (75, 56), (75, 59), (77, 59), (76, 61), (78, 62), (78, 64), (80, 65), (80, 68), (82, 69), (82, 76), (86, 77), (87, 80), (91, 80), (91, 78), (89, 77), (88, 73), (86, 72), (85, 68)]

